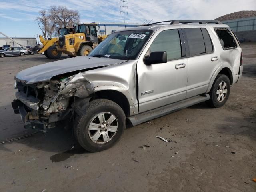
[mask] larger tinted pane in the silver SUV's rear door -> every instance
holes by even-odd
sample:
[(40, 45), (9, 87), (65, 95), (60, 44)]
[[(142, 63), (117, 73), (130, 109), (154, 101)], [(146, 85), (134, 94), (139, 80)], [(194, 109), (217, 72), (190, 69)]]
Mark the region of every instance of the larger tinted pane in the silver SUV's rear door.
[(195, 56), (205, 53), (204, 38), (200, 28), (185, 28), (188, 41), (189, 55)]

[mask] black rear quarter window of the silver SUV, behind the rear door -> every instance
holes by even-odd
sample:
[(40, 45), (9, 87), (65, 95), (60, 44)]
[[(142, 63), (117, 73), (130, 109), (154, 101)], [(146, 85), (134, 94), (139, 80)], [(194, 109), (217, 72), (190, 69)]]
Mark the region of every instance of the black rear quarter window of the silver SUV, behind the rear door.
[(217, 29), (216, 33), (220, 39), (220, 44), (223, 48), (236, 47), (235, 40), (227, 29)]

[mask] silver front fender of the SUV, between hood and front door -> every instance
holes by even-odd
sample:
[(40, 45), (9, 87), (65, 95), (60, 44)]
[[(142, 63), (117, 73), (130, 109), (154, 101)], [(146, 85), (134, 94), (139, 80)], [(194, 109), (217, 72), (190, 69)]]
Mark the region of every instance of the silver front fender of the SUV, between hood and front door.
[(94, 92), (115, 90), (121, 92), (128, 100), (130, 115), (138, 114), (136, 94), (136, 64), (137, 60), (104, 66), (85, 72), (80, 72), (92, 85)]

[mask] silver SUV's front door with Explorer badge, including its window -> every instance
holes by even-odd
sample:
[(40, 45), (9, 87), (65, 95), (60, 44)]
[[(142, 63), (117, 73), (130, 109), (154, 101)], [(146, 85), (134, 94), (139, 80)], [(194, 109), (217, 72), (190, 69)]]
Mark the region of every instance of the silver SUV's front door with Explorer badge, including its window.
[(160, 32), (146, 53), (149, 55), (150, 52), (166, 51), (167, 63), (146, 65), (139, 59), (137, 74), (140, 113), (186, 97), (188, 61), (182, 57), (184, 53), (180, 35), (178, 29)]

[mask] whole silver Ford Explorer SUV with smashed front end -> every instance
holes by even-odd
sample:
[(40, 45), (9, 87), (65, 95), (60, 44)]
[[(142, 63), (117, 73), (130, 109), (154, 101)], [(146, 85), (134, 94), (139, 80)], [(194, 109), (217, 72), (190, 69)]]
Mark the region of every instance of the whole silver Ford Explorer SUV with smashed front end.
[(126, 128), (188, 106), (218, 108), (242, 76), (242, 50), (216, 20), (174, 20), (114, 32), (89, 56), (25, 69), (12, 102), (25, 128), (73, 127), (96, 152)]

